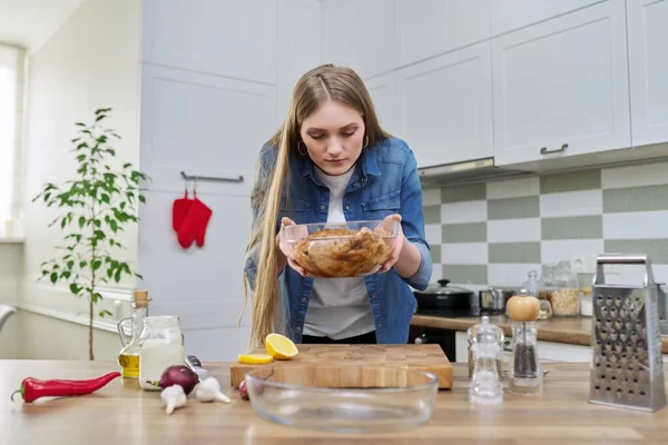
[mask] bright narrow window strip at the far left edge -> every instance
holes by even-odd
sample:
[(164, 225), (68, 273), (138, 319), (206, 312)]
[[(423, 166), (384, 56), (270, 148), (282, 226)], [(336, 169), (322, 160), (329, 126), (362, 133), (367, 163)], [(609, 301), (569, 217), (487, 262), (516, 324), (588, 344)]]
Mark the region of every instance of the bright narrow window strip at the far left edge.
[(20, 125), (22, 50), (0, 46), (0, 236), (13, 219), (16, 154)]

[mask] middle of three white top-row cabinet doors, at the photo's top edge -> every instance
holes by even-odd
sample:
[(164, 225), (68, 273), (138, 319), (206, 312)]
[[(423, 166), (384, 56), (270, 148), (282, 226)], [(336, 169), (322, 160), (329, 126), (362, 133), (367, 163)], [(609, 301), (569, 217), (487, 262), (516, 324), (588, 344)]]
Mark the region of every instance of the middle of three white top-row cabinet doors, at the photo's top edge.
[(489, 39), (490, 0), (396, 0), (395, 22), (405, 66)]

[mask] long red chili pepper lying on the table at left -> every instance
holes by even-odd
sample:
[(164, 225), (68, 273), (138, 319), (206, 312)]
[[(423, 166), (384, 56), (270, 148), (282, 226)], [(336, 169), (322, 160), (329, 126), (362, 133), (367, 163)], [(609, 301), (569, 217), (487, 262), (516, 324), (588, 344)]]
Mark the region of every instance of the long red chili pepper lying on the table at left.
[(17, 394), (20, 394), (26, 403), (35, 402), (40, 397), (82, 396), (98, 390), (116, 377), (120, 377), (120, 373), (105, 374), (90, 380), (38, 380), (28, 377), (21, 382), (21, 389), (16, 390), (11, 399), (13, 400)]

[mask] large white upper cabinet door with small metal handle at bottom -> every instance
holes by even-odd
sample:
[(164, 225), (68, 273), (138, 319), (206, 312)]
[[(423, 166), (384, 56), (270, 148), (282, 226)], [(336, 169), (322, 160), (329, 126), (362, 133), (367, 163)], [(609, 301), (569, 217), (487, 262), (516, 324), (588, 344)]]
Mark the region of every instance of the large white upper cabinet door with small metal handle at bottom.
[(498, 165), (630, 146), (623, 0), (492, 39)]

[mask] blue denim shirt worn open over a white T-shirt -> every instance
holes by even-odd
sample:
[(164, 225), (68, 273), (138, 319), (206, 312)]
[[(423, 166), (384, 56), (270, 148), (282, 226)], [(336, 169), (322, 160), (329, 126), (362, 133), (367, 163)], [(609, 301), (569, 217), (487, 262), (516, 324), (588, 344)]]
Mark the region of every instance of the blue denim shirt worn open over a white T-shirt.
[[(276, 154), (276, 149), (263, 147), (258, 182), (275, 162)], [(296, 224), (326, 222), (330, 190), (318, 180), (315, 168), (308, 156), (291, 154), (289, 179), (286, 179), (289, 184), (285, 185), (288, 188), (284, 188), (281, 199), (276, 230), (284, 216)], [(289, 194), (287, 199), (285, 190)], [(411, 287), (424, 290), (431, 279), (432, 259), (424, 236), (422, 187), (416, 161), (403, 140), (392, 137), (362, 150), (343, 197), (343, 209), (348, 221), (384, 219), (400, 214), (404, 236), (420, 250), (420, 267), (412, 277), (403, 278), (392, 268), (364, 278), (377, 343), (405, 344), (416, 307)], [(255, 289), (257, 251), (249, 255), (244, 269), (250, 288)], [(284, 327), (285, 334), (293, 342), (301, 343), (314, 278), (302, 277), (286, 266), (278, 279), (282, 308), (288, 324)]]

